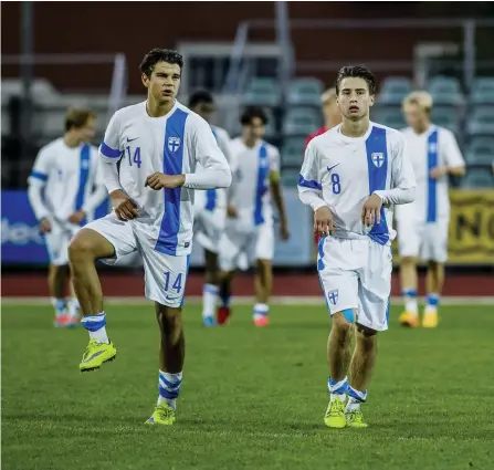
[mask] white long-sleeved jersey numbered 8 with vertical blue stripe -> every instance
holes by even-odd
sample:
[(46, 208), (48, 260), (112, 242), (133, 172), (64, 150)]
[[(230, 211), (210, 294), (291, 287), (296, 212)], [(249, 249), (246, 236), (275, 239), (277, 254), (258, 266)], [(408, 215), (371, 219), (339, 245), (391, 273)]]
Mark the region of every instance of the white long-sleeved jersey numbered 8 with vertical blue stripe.
[[(370, 123), (362, 137), (347, 137), (340, 125), (309, 142), (298, 180), (301, 200), (314, 210), (328, 206), (337, 238), (369, 236), (380, 244), (396, 237), (392, 207), (413, 200), (414, 176), (399, 130)], [(380, 223), (361, 222), (365, 201), (376, 192), (383, 205)]]

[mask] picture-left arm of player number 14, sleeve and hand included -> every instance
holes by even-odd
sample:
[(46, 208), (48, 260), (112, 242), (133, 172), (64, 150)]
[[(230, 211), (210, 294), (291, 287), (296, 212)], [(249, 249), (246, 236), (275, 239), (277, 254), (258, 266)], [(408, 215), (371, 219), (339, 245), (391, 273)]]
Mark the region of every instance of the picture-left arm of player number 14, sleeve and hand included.
[(116, 216), (120, 220), (130, 220), (137, 217), (137, 205), (125, 194), (118, 176), (117, 164), (124, 152), (120, 148), (120, 114), (116, 112), (99, 146), (99, 170)]

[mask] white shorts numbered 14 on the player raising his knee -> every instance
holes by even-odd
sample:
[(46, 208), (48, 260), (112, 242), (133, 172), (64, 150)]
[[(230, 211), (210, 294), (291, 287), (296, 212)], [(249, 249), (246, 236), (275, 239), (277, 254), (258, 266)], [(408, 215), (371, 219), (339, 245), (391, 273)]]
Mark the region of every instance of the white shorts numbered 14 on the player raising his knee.
[(137, 222), (124, 222), (114, 213), (84, 228), (98, 232), (115, 248), (115, 258), (102, 260), (107, 264), (118, 263), (119, 259), (136, 251), (139, 253), (144, 263), (146, 297), (170, 307), (182, 305), (190, 255), (174, 257), (156, 251)]

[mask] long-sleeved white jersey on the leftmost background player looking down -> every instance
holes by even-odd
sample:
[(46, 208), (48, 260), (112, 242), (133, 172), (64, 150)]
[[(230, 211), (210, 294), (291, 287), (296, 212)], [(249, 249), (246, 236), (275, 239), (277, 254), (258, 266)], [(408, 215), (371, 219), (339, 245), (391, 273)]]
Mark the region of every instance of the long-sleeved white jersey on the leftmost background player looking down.
[(48, 217), (67, 223), (71, 215), (84, 210), (86, 221), (91, 221), (94, 210), (107, 196), (97, 148), (87, 144), (67, 147), (63, 138), (41, 148), (28, 181), (29, 198), (38, 220)]

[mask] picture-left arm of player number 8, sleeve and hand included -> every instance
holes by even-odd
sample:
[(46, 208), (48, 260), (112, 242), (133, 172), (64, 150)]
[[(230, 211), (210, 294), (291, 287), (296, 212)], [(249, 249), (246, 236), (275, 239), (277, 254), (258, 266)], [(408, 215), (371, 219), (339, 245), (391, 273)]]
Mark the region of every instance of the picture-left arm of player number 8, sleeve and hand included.
[(314, 210), (314, 230), (316, 233), (327, 234), (333, 231), (333, 213), (323, 199), (323, 186), (319, 178), (319, 156), (313, 142), (305, 150), (298, 177), (298, 197), (303, 203)]

